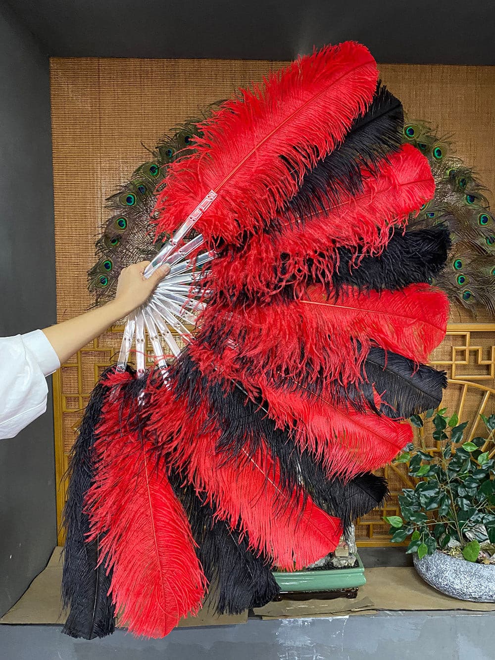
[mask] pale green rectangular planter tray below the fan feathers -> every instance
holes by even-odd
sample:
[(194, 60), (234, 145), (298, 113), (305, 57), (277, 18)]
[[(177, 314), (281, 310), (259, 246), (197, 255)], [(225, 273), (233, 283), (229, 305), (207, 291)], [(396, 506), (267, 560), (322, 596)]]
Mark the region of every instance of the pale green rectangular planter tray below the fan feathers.
[(293, 573), (274, 571), (281, 591), (335, 591), (352, 589), (366, 584), (364, 566), (359, 555), (359, 566), (355, 568), (332, 568), (331, 570), (294, 571)]

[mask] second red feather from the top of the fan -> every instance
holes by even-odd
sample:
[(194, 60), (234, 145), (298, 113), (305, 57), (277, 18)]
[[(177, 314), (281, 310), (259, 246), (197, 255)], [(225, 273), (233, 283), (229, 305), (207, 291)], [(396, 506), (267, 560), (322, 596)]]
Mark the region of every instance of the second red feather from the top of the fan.
[(404, 145), (389, 162), (383, 161), (378, 176), (364, 174), (360, 193), (343, 192), (327, 213), (291, 222), (281, 234), (253, 236), (234, 259), (216, 257), (205, 286), (229, 296), (244, 288), (250, 296), (269, 300), (286, 282), (304, 283), (322, 272), (331, 277), (339, 265), (335, 248), (378, 255), (391, 236), (389, 229), (404, 226), (407, 216), (433, 197), (434, 189), (428, 160)]

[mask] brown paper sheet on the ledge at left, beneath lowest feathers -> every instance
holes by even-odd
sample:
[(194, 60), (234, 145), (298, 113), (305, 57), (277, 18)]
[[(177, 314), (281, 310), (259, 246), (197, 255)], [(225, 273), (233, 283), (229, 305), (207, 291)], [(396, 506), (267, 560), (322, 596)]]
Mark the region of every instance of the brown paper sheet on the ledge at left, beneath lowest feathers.
[[(37, 578), (34, 578), (28, 590), (0, 619), (0, 624), (63, 624), (67, 618), (60, 602), (60, 585), (62, 579), (62, 548), (55, 548), (48, 565)], [(209, 612), (207, 603), (197, 616), (188, 616), (182, 620), (179, 627), (195, 626), (226, 626), (246, 623), (248, 611), (238, 616), (228, 614), (213, 614)]]

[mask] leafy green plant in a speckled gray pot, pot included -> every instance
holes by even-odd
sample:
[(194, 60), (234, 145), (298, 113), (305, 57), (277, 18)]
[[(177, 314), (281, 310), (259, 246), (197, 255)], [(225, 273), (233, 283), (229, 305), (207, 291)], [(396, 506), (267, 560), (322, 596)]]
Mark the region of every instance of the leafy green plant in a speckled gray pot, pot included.
[[(446, 409), (428, 411), (437, 449), (408, 447), (396, 459), (409, 465), (414, 488), (399, 495), (401, 515), (385, 516), (393, 543), (410, 539), (418, 574), (447, 595), (495, 602), (495, 415), (481, 416), (483, 437), (463, 441), (468, 422)], [(412, 419), (423, 426), (419, 416)]]

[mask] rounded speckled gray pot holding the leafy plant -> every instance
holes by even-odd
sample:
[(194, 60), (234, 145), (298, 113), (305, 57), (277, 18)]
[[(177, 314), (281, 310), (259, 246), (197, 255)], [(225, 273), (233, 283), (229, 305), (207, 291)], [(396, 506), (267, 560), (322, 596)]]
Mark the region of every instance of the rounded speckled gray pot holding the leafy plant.
[(436, 550), (422, 559), (414, 553), (414, 566), (425, 582), (447, 596), (495, 603), (495, 565), (467, 562)]

